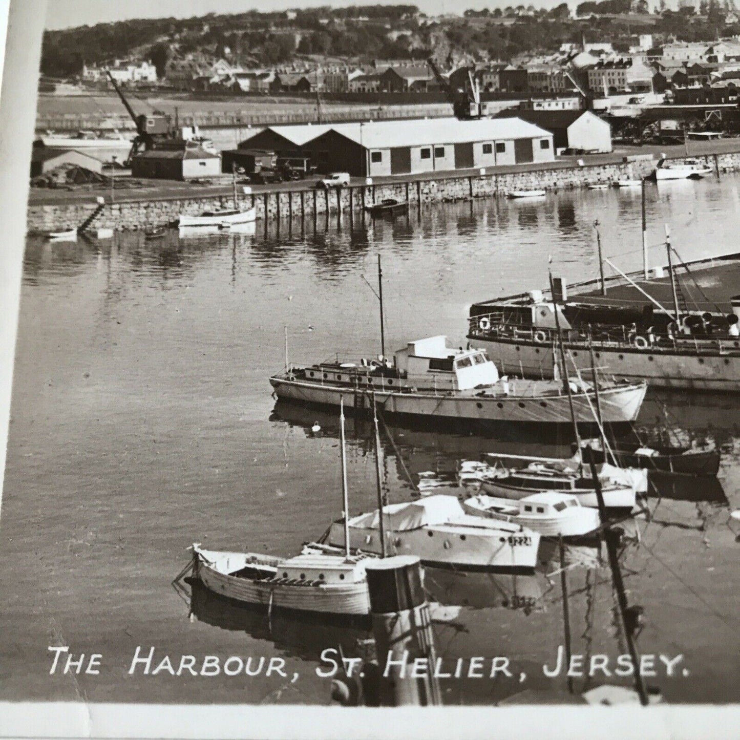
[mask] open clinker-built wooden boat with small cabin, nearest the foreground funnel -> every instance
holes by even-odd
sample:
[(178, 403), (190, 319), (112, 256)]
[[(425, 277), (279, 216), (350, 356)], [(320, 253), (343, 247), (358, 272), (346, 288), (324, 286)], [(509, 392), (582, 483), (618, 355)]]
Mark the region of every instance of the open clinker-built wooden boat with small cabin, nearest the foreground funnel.
[(279, 558), (192, 545), (193, 575), (206, 588), (245, 604), (334, 615), (366, 615), (367, 556), (324, 553)]

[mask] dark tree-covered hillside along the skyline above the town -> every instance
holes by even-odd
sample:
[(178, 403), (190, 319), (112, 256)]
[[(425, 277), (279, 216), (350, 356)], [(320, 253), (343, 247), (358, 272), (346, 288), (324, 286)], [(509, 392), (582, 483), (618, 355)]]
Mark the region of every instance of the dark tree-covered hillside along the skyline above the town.
[(427, 18), (415, 5), (405, 4), (252, 10), (47, 31), (41, 72), (64, 78), (79, 74), (83, 64), (147, 58), (161, 74), (170, 58), (190, 53), (243, 66), (288, 65), (301, 58), (423, 59), (430, 53), (443, 62), (511, 59), (579, 43), (584, 35), (626, 50), (635, 33), (676, 41), (713, 41), (740, 33), (740, 24), (728, 24), (727, 16), (719, 0), (702, 0), (699, 13), (693, 7), (667, 10), (665, 0), (653, 13), (647, 0), (589, 0), (578, 5), (576, 18), (565, 3), (551, 10), (533, 5), (467, 10), (444, 19)]

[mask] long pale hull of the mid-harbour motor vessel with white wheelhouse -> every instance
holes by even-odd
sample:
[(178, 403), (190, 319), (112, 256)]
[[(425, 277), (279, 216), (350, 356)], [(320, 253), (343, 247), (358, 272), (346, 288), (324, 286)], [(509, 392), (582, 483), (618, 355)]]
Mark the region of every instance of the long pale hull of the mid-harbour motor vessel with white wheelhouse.
[[(291, 380), (287, 374), (270, 378), (278, 399), (317, 406), (339, 406), (344, 399), (346, 408), (364, 410), (371, 408), (367, 391), (321, 385), (306, 380)], [(546, 396), (527, 395), (527, 381), (511, 383), (508, 396), (480, 396), (475, 394), (434, 394), (427, 392), (375, 391), (375, 399), (384, 414), (401, 414), (406, 417), (460, 421), (487, 424), (571, 425), (571, 411), (567, 394)], [(631, 423), (639, 414), (645, 398), (644, 384), (605, 388), (600, 392), (602, 418), (610, 424)], [(593, 425), (593, 394), (573, 394), (573, 411), (576, 422)]]

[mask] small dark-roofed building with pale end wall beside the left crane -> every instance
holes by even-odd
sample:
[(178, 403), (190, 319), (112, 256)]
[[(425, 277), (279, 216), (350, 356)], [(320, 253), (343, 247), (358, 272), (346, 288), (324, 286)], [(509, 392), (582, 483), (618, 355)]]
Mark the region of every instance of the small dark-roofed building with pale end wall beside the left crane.
[(194, 142), (163, 143), (156, 149), (136, 155), (131, 161), (131, 175), (161, 180), (209, 178), (221, 175), (221, 157), (206, 152)]

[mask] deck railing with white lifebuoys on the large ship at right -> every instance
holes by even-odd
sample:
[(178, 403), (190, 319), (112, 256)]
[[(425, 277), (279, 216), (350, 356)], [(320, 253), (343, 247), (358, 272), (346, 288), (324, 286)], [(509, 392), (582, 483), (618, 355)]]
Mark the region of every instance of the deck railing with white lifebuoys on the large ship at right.
[[(505, 322), (500, 312), (482, 314), (469, 320), (468, 338), (471, 340), (514, 340), (525, 343), (553, 346), (558, 341), (558, 332), (543, 326), (525, 326)], [(562, 329), (562, 340), (569, 348), (628, 349), (638, 351), (665, 352), (670, 354), (740, 355), (740, 337), (730, 334), (722, 337), (691, 334), (659, 334), (640, 332), (628, 326), (613, 326), (591, 329)]]

